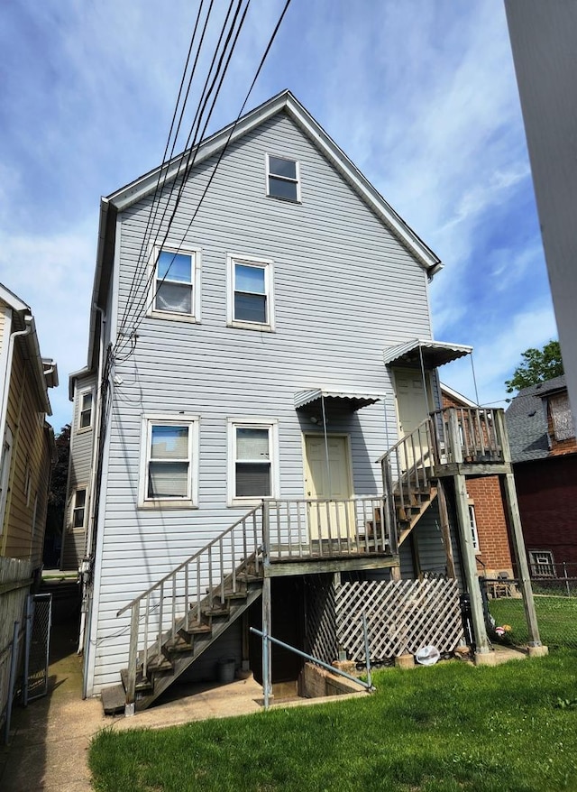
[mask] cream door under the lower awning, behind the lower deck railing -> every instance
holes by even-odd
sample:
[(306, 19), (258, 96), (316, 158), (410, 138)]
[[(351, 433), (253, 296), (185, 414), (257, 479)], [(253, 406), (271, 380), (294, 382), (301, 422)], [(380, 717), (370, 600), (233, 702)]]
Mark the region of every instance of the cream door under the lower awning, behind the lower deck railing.
[[(327, 465), (328, 450), (328, 465)], [(348, 437), (305, 437), (305, 494), (321, 501), (308, 507), (312, 539), (336, 539), (353, 535), (353, 476)]]

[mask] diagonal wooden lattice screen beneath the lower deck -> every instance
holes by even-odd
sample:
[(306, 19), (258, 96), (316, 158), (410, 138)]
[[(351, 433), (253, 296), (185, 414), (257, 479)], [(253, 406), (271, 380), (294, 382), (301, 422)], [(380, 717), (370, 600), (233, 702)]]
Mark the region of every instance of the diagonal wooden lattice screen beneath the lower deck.
[(416, 654), (425, 646), (452, 652), (464, 643), (456, 580), (358, 581), (318, 585), (309, 597), (307, 643), (316, 657), (332, 662), (335, 647), (365, 662), (362, 613), (367, 616), (371, 662)]

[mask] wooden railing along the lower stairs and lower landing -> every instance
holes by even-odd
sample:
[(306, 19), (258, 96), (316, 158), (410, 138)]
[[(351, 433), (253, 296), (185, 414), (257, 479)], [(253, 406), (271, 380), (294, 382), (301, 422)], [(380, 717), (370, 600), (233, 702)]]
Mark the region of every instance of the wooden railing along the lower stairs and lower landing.
[(264, 563), (389, 552), (380, 497), (263, 501), (117, 612), (131, 612), (127, 702), (138, 671), (147, 676), (166, 641), (261, 576)]

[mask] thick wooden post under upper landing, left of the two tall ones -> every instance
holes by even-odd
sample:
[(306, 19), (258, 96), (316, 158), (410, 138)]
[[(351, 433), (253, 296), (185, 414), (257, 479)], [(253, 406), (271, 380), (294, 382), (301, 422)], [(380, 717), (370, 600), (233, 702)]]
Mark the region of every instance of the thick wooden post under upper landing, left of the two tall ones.
[[(475, 633), (475, 659), (477, 662), (486, 661), (491, 648), (487, 637), (487, 628), (483, 615), (483, 603), (479, 576), (477, 576), (477, 561), (475, 549), (472, 546), (471, 520), (469, 518), (469, 504), (467, 498), (467, 481), (462, 474), (453, 476), (454, 497), (457, 509), (457, 522), (459, 536), (463, 549), (463, 567), (465, 580), (471, 597), (472, 629)], [(483, 657), (484, 656), (484, 657)]]

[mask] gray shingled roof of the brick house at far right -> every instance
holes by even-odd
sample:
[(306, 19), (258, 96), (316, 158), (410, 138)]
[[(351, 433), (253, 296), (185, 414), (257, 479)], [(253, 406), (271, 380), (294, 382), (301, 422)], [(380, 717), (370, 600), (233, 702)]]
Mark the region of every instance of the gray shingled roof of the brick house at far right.
[(563, 390), (566, 390), (564, 374), (523, 388), (511, 401), (505, 419), (513, 462), (530, 462), (550, 455), (543, 397)]

